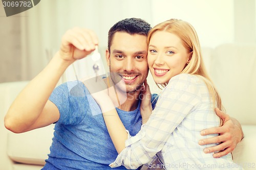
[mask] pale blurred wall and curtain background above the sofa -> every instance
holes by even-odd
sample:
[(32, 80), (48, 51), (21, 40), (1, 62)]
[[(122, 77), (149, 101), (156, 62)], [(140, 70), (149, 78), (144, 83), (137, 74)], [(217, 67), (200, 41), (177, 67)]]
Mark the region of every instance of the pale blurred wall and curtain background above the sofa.
[[(137, 17), (154, 27), (170, 18), (190, 22), (201, 46), (256, 42), (255, 0), (42, 0), (32, 9), (6, 17), (0, 5), (0, 83), (31, 80), (58, 50), (70, 28), (92, 29), (104, 58), (108, 30), (117, 21)], [(93, 75), (88, 58), (77, 67)]]

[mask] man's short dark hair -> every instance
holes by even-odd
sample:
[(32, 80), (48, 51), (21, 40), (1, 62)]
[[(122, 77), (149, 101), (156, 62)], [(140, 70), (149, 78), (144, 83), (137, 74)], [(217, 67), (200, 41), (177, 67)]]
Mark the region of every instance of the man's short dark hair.
[(109, 31), (108, 49), (110, 52), (110, 46), (112, 44), (113, 37), (116, 32), (125, 32), (131, 35), (139, 34), (147, 36), (147, 33), (151, 30), (149, 23), (140, 18), (126, 18), (115, 23)]

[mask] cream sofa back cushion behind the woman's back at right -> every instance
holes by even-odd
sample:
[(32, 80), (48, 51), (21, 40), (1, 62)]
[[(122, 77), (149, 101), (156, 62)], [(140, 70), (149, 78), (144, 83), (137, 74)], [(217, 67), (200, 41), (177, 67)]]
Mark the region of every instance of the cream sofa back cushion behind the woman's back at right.
[(256, 125), (256, 43), (217, 46), (210, 76), (227, 113), (242, 125)]

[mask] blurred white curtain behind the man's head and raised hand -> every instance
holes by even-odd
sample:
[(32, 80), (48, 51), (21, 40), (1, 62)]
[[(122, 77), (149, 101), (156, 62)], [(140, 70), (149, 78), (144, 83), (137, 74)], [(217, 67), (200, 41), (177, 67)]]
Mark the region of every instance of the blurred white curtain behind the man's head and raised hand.
[[(148, 0), (44, 0), (25, 12), (21, 19), (22, 79), (31, 80), (58, 50), (61, 37), (68, 29), (82, 27), (93, 30), (99, 38), (102, 61), (98, 74), (104, 74), (108, 31), (117, 21), (137, 17), (151, 22)], [(94, 76), (91, 57), (74, 63), (78, 78)], [(75, 80), (70, 66), (63, 81)]]

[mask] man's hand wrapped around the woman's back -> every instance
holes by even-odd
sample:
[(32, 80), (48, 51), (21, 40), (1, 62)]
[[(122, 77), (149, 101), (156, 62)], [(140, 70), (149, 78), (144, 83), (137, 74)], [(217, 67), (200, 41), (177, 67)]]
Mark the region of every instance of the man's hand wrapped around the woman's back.
[(223, 125), (221, 127), (202, 130), (201, 135), (203, 136), (208, 134), (220, 134), (220, 135), (212, 138), (202, 139), (199, 141), (199, 144), (204, 145), (204, 144), (220, 142), (220, 144), (216, 145), (215, 147), (204, 149), (205, 153), (216, 152), (215, 154), (213, 154), (213, 156), (215, 158), (219, 158), (232, 152), (234, 148), (236, 148), (237, 143), (243, 139), (244, 133), (237, 119), (229, 117), (228, 114), (225, 114), (218, 108), (216, 108), (215, 111), (217, 115), (223, 120)]

